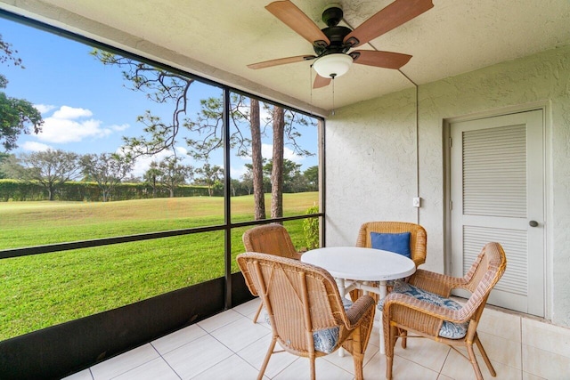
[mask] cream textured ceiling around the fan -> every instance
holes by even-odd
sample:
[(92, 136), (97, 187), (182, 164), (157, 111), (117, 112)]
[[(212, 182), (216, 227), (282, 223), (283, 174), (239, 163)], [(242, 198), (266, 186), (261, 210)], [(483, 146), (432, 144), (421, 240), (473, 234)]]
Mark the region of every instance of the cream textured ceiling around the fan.
[[(0, 7), (275, 101), (326, 114), (418, 85), (570, 44), (569, 0), (433, 0), (419, 17), (362, 45), (407, 53), (401, 69), (353, 65), (333, 86), (312, 89), (311, 62), (248, 69), (313, 48), (265, 10), (263, 0), (0, 0)], [(330, 0), (293, 0), (324, 28)], [(355, 28), (392, 0), (340, 0)], [(346, 25), (346, 24), (345, 24)], [(405, 74), (405, 76), (403, 75)]]

